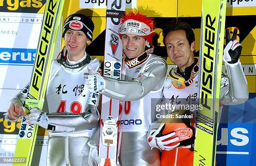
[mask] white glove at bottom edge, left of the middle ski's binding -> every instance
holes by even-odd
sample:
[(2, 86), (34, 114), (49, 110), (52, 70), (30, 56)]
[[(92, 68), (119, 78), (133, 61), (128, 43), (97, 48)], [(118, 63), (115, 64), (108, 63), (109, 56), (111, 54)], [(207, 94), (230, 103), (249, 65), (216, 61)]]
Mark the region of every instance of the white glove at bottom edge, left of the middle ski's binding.
[(90, 146), (89, 159), (88, 159), (89, 166), (98, 166), (98, 164), (100, 164), (98, 147), (96, 146), (95, 141), (93, 140), (89, 141), (87, 144)]

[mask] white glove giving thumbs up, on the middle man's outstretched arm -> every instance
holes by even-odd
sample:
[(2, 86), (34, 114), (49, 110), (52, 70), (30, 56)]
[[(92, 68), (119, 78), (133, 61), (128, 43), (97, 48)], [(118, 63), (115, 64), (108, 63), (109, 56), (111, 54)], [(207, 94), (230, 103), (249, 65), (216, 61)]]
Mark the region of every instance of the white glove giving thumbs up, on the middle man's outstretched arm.
[(105, 81), (99, 73), (84, 76), (85, 84), (90, 92), (98, 92), (105, 89)]

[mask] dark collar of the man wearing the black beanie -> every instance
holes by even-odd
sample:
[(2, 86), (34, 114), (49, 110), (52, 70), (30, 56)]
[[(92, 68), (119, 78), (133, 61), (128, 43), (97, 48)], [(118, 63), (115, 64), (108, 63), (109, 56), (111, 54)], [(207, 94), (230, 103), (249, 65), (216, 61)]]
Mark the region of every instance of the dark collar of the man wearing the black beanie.
[(80, 67), (84, 66), (85, 64), (88, 64), (91, 61), (90, 55), (86, 54), (86, 52), (84, 53), (84, 57), (82, 59), (80, 59), (79, 61), (77, 61), (77, 62), (70, 61), (68, 58), (68, 52), (67, 52), (66, 47), (64, 47), (61, 50), (60, 54), (61, 54), (61, 57), (60, 57), (60, 59), (57, 59), (57, 62), (59, 62), (61, 65), (63, 65), (64, 67), (67, 67), (69, 69), (80, 68)]

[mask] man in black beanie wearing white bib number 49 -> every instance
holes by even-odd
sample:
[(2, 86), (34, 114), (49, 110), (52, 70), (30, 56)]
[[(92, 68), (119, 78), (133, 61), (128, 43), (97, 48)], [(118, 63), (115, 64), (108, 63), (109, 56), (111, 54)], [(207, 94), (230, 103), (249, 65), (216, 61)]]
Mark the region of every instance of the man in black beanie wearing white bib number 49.
[(44, 112), (33, 108), (26, 115), (24, 103), (28, 86), (9, 104), (5, 119), (26, 116), (29, 124), (49, 130), (48, 166), (88, 166), (88, 139), (98, 125), (98, 93), (90, 93), (83, 74), (100, 70), (100, 61), (85, 52), (92, 41), (94, 24), (82, 14), (72, 14), (64, 22), (65, 47), (51, 64)]

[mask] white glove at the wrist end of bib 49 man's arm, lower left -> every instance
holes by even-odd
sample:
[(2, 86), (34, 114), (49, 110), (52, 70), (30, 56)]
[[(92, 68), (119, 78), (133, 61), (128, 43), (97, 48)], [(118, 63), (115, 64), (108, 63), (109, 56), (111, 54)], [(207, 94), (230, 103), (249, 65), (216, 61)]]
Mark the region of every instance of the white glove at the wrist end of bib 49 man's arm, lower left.
[(30, 110), (28, 117), (26, 117), (26, 122), (29, 124), (38, 124), (44, 129), (47, 129), (49, 118), (47, 117), (46, 112), (43, 112), (38, 108), (33, 108)]

